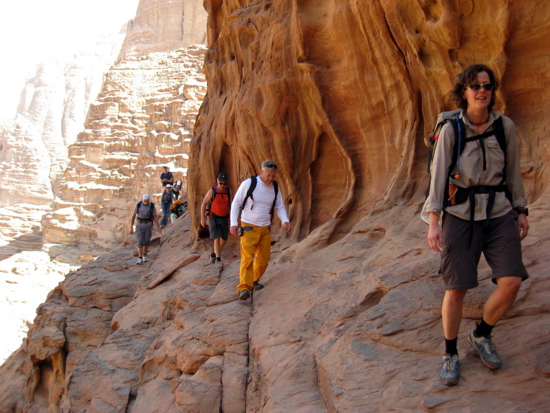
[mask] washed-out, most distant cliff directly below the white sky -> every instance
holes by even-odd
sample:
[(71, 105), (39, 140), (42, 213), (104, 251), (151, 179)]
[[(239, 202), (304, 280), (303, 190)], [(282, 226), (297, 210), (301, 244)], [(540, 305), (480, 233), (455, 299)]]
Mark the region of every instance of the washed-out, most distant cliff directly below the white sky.
[(1, 131), (0, 206), (53, 200), (51, 182), (67, 166), (67, 147), (82, 130), (123, 36), (45, 61), (28, 79), (12, 125)]

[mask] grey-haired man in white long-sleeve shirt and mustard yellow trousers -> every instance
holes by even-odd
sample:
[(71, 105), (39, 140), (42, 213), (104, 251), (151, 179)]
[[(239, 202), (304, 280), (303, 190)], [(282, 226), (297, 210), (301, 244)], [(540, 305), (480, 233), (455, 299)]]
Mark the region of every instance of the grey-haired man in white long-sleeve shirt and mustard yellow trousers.
[[(263, 288), (259, 279), (265, 273), (271, 257), (271, 222), (274, 211), (287, 232), (290, 232), (283, 195), (278, 191), (275, 181), (276, 173), (275, 162), (271, 160), (262, 162), (260, 175), (243, 181), (231, 204), (230, 233), (234, 236), (239, 236), (239, 213), (242, 210), (241, 270), (239, 286), (236, 288), (239, 299), (248, 299), (252, 288), (254, 290)], [(247, 197), (251, 185), (254, 190), (250, 197)]]

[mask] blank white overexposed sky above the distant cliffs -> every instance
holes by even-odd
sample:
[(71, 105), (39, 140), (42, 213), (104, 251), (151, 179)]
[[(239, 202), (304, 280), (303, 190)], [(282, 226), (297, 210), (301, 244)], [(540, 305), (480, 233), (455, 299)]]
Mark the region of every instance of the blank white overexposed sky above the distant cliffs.
[(139, 0), (1, 0), (0, 120), (14, 116), (25, 80), (47, 56), (118, 33)]

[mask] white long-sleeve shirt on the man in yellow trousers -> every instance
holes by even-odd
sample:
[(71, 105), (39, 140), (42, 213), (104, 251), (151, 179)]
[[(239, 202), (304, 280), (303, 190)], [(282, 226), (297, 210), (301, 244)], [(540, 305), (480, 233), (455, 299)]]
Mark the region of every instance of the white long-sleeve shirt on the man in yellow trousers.
[[(262, 182), (259, 176), (256, 176), (256, 188), (252, 193), (252, 197), (246, 201), (245, 208), (241, 215), (241, 222), (252, 224), (256, 226), (270, 226), (271, 225), (271, 207), (273, 205), (273, 199), (275, 197), (275, 189), (273, 185), (266, 185)], [(233, 202), (231, 204), (231, 226), (239, 225), (239, 210), (243, 204), (248, 188), (250, 188), (251, 179), (248, 178), (241, 182), (239, 189), (237, 189)], [(275, 202), (275, 212), (278, 218), (281, 220), (281, 224), (289, 222), (287, 216), (287, 210), (283, 203), (283, 195), (281, 193), (281, 187), (277, 194), (277, 200)]]

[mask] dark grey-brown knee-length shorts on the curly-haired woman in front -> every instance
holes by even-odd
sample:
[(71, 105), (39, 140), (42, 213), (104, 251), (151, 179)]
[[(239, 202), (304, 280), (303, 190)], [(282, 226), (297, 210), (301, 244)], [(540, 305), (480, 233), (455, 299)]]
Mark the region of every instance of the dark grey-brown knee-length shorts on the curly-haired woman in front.
[(446, 290), (469, 290), (478, 286), (477, 266), (481, 253), (491, 267), (492, 282), (500, 277), (529, 275), (522, 262), (521, 242), (516, 225), (517, 213), (509, 213), (489, 220), (474, 222), (474, 235), (470, 242), (470, 221), (443, 214), (443, 248), (441, 248), (441, 277)]

